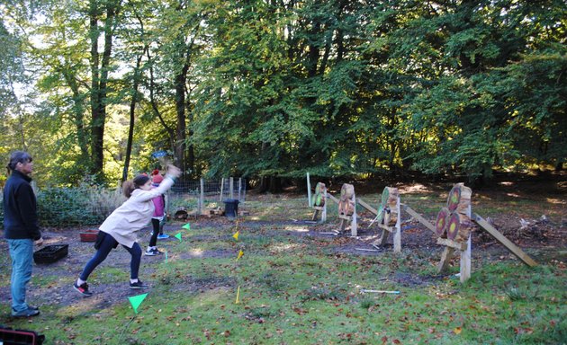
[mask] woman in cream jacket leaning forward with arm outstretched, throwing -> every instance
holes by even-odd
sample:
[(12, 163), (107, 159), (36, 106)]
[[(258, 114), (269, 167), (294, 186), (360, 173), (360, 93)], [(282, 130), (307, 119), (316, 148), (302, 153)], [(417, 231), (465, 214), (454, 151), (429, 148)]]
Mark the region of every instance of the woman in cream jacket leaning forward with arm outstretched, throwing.
[(167, 166), (167, 173), (156, 189), (152, 189), (151, 180), (147, 175), (138, 175), (131, 181), (125, 181), (122, 191), (128, 200), (104, 220), (99, 227), (99, 233), (94, 243), (96, 252), (85, 265), (73, 288), (82, 296), (93, 296), (88, 289), (86, 280), (93, 270), (106, 259), (106, 256), (121, 244), (131, 255), (130, 288), (147, 289), (148, 286), (138, 279), (139, 263), (142, 250), (138, 244), (137, 233), (145, 227), (154, 214), (152, 199), (164, 194), (173, 186), (181, 171), (174, 165)]

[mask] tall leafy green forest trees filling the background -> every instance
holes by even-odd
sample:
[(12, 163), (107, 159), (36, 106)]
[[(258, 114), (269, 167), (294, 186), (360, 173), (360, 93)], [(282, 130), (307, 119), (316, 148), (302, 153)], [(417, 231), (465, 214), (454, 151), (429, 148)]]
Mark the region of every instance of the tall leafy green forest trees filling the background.
[[(3, 0), (0, 156), (40, 186), (561, 171), (562, 0)], [(0, 177), (0, 185), (5, 176)]]

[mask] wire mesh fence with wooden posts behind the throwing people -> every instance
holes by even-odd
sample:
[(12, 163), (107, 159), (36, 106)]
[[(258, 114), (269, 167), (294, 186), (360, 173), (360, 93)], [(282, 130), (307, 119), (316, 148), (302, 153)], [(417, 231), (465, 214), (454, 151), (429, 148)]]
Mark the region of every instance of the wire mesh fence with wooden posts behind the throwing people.
[[(121, 188), (103, 188), (82, 185), (73, 188), (37, 189), (37, 205), (40, 226), (84, 227), (103, 223), (112, 211), (126, 200)], [(0, 189), (0, 192), (3, 190)], [(166, 193), (166, 211), (171, 217), (182, 214), (202, 215), (207, 209), (223, 208), (223, 203), (238, 199), (246, 200), (246, 181), (242, 178), (227, 178), (218, 181), (176, 181)], [(0, 199), (0, 226), (4, 220), (4, 208)]]

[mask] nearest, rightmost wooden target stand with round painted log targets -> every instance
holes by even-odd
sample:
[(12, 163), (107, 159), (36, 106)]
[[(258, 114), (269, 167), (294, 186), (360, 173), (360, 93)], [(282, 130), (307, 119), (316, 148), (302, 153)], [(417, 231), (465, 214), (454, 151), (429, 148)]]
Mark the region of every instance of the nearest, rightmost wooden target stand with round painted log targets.
[(435, 233), (437, 244), (445, 245), (441, 261), (437, 265), (439, 272), (446, 272), (453, 254), (461, 254), (461, 282), (471, 278), (471, 233), (475, 226), (471, 220), (471, 195), (473, 190), (457, 183), (449, 192), (446, 208), (437, 214)]

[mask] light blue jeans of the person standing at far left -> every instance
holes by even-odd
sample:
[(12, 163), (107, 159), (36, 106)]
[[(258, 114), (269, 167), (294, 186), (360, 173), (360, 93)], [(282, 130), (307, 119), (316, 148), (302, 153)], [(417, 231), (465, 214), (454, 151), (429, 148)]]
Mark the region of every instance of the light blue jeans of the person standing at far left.
[(12, 258), (12, 309), (14, 312), (22, 312), (28, 309), (25, 303), (25, 286), (31, 279), (33, 241), (8, 239), (7, 242)]

